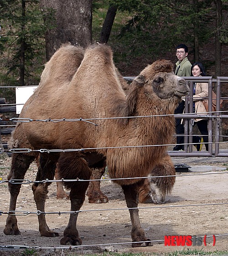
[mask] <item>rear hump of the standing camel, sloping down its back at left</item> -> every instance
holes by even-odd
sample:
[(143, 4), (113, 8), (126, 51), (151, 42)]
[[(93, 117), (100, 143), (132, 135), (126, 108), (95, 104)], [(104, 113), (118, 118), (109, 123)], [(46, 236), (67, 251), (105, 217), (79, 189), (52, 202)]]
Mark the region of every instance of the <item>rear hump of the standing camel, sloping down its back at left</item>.
[[(63, 44), (52, 58), (45, 64), (41, 80), (34, 94), (26, 101), (20, 117), (41, 118), (43, 108), (50, 110), (56, 108), (59, 98), (67, 92), (68, 85), (73, 75), (78, 70), (84, 57), (84, 49), (70, 44)], [(44, 116), (45, 117), (45, 116)], [(53, 118), (53, 116), (52, 116)]]

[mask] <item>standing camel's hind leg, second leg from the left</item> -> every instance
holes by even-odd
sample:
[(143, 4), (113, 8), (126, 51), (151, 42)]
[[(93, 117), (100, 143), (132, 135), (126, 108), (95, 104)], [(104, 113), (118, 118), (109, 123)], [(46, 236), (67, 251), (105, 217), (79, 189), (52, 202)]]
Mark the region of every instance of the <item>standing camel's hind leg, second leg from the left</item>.
[[(46, 179), (53, 180), (56, 169), (56, 161), (57, 160), (55, 159), (50, 159), (49, 155), (41, 154), (40, 164), (36, 175), (36, 181), (43, 181)], [(50, 184), (50, 182), (40, 182), (34, 183), (32, 185), (32, 191), (38, 211), (45, 212), (45, 201), (48, 193), (47, 187)], [(53, 232), (51, 229), (49, 229), (46, 223), (45, 214), (38, 214), (38, 221), (41, 236), (56, 237), (59, 235), (57, 232)]]

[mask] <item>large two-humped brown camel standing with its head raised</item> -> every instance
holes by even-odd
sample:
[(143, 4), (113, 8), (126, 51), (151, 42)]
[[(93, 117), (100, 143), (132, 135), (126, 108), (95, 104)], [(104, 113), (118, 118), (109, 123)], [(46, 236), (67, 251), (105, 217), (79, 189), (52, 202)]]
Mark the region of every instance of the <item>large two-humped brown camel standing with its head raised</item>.
[[(80, 55), (82, 51), (78, 51)], [(112, 60), (112, 51), (108, 46), (95, 45), (87, 48), (73, 77), (71, 70), (73, 66), (74, 69), (77, 66), (72, 64), (73, 59), (66, 65), (57, 58), (64, 55), (67, 59), (67, 54), (72, 56), (72, 52), (67, 53), (65, 48), (60, 48), (53, 55), (43, 71), (40, 86), (26, 102), (20, 117), (125, 117), (124, 122), (119, 119), (93, 120), (97, 126), (83, 121), (20, 123), (13, 135), (15, 147), (23, 148), (26, 145), (26, 148), (33, 149), (100, 148), (67, 153), (42, 153), (37, 180), (43, 177), (53, 178), (56, 164), (64, 179), (88, 180), (92, 173), (91, 168), (101, 168), (105, 159), (111, 178), (148, 176), (165, 157), (166, 146), (138, 148), (135, 145), (169, 144), (175, 119), (173, 116), (136, 116), (173, 114), (181, 96), (187, 95), (189, 91), (185, 80), (171, 72), (171, 62), (160, 60), (149, 65), (135, 78), (125, 96)], [(77, 59), (78, 55), (74, 55)], [(55, 73), (56, 70), (60, 73)], [(66, 77), (62, 79), (61, 72), (66, 73), (62, 75), (68, 77), (68, 83)], [(130, 116), (135, 118), (128, 118)], [(120, 146), (130, 147), (118, 148)], [(14, 154), (9, 179), (23, 179), (32, 160), (34, 154)], [(141, 228), (138, 209), (135, 209), (138, 205), (138, 191), (144, 181), (138, 178), (115, 182), (122, 186), (130, 211), (131, 237), (133, 242), (137, 242), (132, 246), (151, 245)], [(66, 185), (70, 189), (71, 210), (78, 211), (83, 205), (88, 181), (66, 182)], [(32, 186), (36, 206), (40, 211), (44, 211), (47, 186), (47, 183)], [(9, 189), (10, 211), (14, 211), (20, 185), (9, 183)], [(82, 240), (78, 237), (76, 226), (77, 217), (78, 214), (70, 215), (61, 244), (81, 245)], [(38, 219), (41, 235), (58, 235), (48, 228), (45, 215), (38, 215)], [(16, 216), (8, 216), (4, 233), (20, 234)]]

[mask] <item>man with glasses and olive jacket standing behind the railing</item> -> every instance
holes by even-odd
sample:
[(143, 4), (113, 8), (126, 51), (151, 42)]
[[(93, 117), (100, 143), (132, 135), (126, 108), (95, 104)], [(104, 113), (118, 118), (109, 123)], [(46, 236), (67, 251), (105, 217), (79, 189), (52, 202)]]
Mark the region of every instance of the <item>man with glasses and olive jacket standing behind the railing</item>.
[[(191, 67), (192, 64), (187, 58), (188, 48), (185, 44), (179, 44), (176, 47), (176, 62), (175, 75), (179, 76), (191, 76)], [(182, 114), (185, 107), (185, 101), (181, 101), (178, 107), (175, 110), (175, 114)], [(184, 124), (181, 123), (181, 118), (176, 119), (176, 134), (184, 134)], [(173, 150), (184, 150), (184, 136), (176, 136), (176, 146)]]

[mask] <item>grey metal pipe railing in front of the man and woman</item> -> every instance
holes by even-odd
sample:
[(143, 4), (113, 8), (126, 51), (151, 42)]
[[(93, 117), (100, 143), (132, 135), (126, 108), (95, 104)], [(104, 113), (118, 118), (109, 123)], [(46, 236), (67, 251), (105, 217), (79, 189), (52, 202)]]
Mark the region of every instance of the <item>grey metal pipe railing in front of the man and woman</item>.
[[(135, 76), (124, 77), (125, 80), (131, 81)], [(221, 83), (227, 82), (228, 77), (217, 77), (213, 79), (212, 76), (200, 76), (200, 77), (183, 77), (189, 87), (190, 93), (185, 97), (185, 111), (183, 114), (175, 115), (175, 118), (182, 118), (184, 121), (184, 134), (178, 134), (184, 136), (184, 150), (183, 151), (171, 151), (168, 153), (171, 156), (218, 156), (228, 157), (228, 149), (223, 149), (223, 152), (219, 149), (219, 143), (221, 142), (221, 119), (228, 118), (227, 110), (220, 110), (220, 99), (228, 100), (228, 98), (221, 98), (222, 86)], [(208, 112), (202, 114), (193, 113), (193, 85), (195, 82), (207, 82), (208, 83)], [(213, 86), (214, 85), (214, 86)], [(212, 89), (216, 89), (216, 112), (212, 112)], [(192, 150), (192, 138), (193, 135), (193, 119), (207, 119), (208, 120), (208, 151), (193, 151)], [(215, 121), (213, 121), (215, 120)], [(175, 136), (178, 136), (175, 134)], [(214, 145), (214, 147), (213, 147)], [(228, 148), (228, 147), (227, 147)]]

